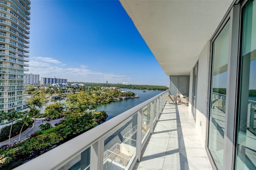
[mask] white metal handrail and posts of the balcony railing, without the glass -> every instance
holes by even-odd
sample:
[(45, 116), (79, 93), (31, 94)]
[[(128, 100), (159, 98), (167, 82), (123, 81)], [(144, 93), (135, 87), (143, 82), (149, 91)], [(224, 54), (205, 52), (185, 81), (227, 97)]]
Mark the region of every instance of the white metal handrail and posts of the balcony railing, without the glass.
[[(32, 170), (34, 167), (40, 165), (40, 169), (65, 170), (72, 168), (72, 165), (76, 164), (78, 161), (86, 162), (86, 160), (89, 159), (90, 164), (88, 166), (90, 166), (90, 169), (103, 170), (104, 158), (106, 158), (106, 154), (104, 155), (104, 146), (111, 144), (111, 140), (109, 142), (108, 139), (112, 139), (112, 137), (115, 136), (119, 139), (118, 134), (120, 134), (122, 130), (127, 132), (137, 125), (136, 147), (130, 146), (132, 147), (131, 149), (135, 150), (133, 150), (132, 154), (130, 154), (130, 160), (125, 160), (126, 163), (124, 164), (124, 167), (122, 167), (125, 169), (133, 168), (136, 161), (141, 159), (142, 149), (145, 146), (150, 134), (153, 133), (154, 125), (156, 125), (156, 122), (162, 113), (162, 109), (164, 108), (165, 96), (167, 94), (168, 91), (164, 91), (155, 97), (152, 97), (151, 99), (129, 109), (128, 111), (125, 111), (124, 113), (102, 123), (101, 125), (98, 125), (97, 127), (80, 134), (64, 144), (61, 144), (60, 146), (53, 148), (52, 150), (49, 150), (48, 152), (18, 166), (16, 169)], [(154, 107), (154, 105), (156, 105), (156, 107)], [(145, 107), (150, 108), (150, 123), (148, 125), (149, 128), (146, 134), (142, 138), (142, 114)], [(156, 116), (154, 117), (154, 115)], [(129, 126), (127, 126), (127, 124), (129, 124)], [(113, 141), (113, 144), (115, 143)], [(89, 158), (88, 156), (85, 156), (86, 154), (83, 154), (88, 150), (90, 150)], [(124, 160), (122, 161), (124, 162)]]

